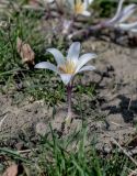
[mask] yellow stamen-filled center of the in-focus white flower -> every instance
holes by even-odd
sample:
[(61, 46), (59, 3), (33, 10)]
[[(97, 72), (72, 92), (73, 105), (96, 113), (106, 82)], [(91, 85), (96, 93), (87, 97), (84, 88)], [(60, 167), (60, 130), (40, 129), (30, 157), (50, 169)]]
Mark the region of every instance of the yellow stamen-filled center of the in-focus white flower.
[(61, 74), (75, 74), (76, 65), (72, 61), (67, 61), (64, 65), (58, 67)]

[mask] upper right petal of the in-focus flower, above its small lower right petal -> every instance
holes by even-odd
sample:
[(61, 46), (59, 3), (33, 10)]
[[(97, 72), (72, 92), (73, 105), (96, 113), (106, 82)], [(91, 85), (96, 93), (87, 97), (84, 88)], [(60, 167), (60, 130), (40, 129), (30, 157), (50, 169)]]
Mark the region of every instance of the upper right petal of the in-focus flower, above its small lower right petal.
[(92, 58), (95, 58), (95, 57), (96, 57), (96, 54), (94, 54), (94, 53), (83, 54), (83, 55), (79, 58), (76, 73), (78, 73), (78, 72), (81, 69), (81, 67), (83, 67), (89, 61), (91, 61)]

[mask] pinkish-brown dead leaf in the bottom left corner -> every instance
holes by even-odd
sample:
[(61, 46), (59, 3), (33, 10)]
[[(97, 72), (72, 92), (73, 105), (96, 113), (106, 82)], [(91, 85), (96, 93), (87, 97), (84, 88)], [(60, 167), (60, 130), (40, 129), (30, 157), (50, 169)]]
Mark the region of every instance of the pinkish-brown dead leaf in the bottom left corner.
[(18, 165), (13, 164), (8, 167), (2, 176), (18, 176)]

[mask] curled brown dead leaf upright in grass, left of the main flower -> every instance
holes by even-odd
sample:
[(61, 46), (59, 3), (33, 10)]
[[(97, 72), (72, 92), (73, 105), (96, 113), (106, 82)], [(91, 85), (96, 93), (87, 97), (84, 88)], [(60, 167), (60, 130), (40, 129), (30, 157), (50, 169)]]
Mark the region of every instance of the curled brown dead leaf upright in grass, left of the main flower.
[(24, 43), (20, 37), (16, 38), (16, 50), (22, 58), (23, 64), (35, 65), (35, 53), (27, 43)]

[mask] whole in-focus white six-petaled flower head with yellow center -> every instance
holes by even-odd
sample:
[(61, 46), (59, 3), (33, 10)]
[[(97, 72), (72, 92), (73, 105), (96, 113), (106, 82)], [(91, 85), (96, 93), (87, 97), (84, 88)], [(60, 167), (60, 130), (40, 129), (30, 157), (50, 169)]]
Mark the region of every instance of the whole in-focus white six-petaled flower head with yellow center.
[(95, 58), (96, 55), (93, 53), (87, 53), (79, 56), (79, 42), (71, 44), (67, 57), (64, 57), (64, 55), (56, 48), (48, 48), (47, 52), (54, 55), (57, 66), (48, 62), (42, 62), (36, 64), (35, 68), (46, 68), (59, 74), (65, 85), (68, 85), (76, 74), (95, 69), (92, 65), (85, 66), (85, 64), (92, 58)]

